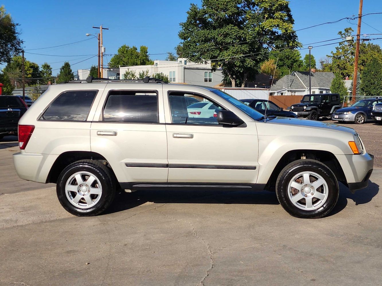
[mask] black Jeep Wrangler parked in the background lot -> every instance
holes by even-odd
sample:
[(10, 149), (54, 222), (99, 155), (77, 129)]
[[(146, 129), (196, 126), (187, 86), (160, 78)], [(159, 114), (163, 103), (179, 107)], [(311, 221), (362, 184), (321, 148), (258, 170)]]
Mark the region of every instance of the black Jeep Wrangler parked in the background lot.
[(318, 120), (321, 116), (330, 116), (338, 108), (341, 108), (340, 104), (338, 93), (307, 94), (304, 95), (301, 103), (293, 104), (290, 111), (299, 117)]

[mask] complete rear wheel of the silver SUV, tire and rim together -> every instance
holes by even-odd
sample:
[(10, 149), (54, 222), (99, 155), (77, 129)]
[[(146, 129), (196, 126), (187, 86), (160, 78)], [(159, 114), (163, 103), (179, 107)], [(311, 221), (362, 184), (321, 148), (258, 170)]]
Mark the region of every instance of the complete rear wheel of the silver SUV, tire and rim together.
[(70, 164), (57, 180), (57, 197), (71, 214), (92, 216), (104, 212), (115, 196), (110, 170), (98, 161), (81, 160)]

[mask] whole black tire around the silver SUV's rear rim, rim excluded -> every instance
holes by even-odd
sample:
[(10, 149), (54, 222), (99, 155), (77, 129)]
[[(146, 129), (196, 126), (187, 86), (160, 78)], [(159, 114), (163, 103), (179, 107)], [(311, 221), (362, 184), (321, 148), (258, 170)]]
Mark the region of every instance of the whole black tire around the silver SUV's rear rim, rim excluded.
[[(66, 196), (66, 182), (77, 172), (89, 172), (98, 178), (102, 186), (101, 198), (92, 207), (81, 209), (74, 206)], [(103, 164), (94, 160), (76, 161), (66, 167), (60, 174), (57, 180), (57, 198), (60, 204), (73, 215), (80, 217), (99, 215), (104, 212), (113, 202), (116, 193), (116, 184), (112, 172)]]

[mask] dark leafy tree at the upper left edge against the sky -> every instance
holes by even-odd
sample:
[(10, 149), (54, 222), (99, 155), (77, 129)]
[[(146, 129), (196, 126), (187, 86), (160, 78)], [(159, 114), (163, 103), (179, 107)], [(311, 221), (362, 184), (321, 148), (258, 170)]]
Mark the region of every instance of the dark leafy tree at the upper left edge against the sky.
[(8, 63), (11, 58), (18, 55), (23, 41), (16, 31), (18, 24), (12, 21), (11, 15), (7, 14), (4, 6), (0, 7), (0, 63)]

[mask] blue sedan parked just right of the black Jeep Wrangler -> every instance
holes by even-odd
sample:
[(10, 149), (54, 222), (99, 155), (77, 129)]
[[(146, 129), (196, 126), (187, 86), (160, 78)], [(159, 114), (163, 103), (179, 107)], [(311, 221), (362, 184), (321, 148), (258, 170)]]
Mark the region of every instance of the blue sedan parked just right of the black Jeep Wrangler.
[(371, 111), (377, 103), (382, 102), (382, 98), (367, 98), (359, 100), (352, 106), (337, 109), (332, 114), (332, 120), (343, 122), (354, 122), (363, 124), (367, 121), (374, 121)]

